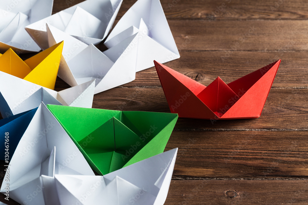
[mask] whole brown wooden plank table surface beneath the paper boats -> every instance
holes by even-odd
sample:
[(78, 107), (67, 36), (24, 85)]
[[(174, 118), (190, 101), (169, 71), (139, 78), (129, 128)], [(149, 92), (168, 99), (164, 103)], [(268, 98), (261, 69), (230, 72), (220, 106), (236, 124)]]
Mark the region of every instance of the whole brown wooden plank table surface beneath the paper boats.
[[(55, 0), (53, 13), (81, 1)], [(124, 0), (115, 23), (134, 2)], [(204, 85), (217, 76), (229, 83), (282, 59), (261, 117), (179, 118), (166, 147), (179, 150), (165, 204), (308, 203), (307, 1), (161, 4), (181, 55), (165, 65)], [(57, 80), (57, 91), (68, 87)], [(170, 112), (155, 68), (96, 94), (93, 108)]]

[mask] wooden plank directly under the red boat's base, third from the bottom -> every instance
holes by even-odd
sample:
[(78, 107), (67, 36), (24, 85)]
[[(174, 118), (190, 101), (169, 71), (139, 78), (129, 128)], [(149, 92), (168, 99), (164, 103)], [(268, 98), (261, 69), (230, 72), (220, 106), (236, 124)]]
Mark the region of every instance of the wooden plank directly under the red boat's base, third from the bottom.
[[(261, 117), (242, 120), (196, 120), (180, 118), (176, 130), (307, 129), (306, 89), (271, 89)], [(94, 96), (93, 108), (170, 112), (159, 88), (114, 88)]]

